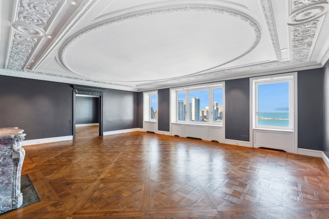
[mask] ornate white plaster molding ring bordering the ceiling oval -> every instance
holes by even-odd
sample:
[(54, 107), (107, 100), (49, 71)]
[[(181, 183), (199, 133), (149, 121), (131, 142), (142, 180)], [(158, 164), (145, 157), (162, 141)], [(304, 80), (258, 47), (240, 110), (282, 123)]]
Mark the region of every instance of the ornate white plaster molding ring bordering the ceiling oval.
[[(255, 39), (253, 44), (251, 45), (251, 47), (245, 51), (244, 53), (242, 53), (241, 55), (231, 59), (228, 62), (222, 63), (220, 65), (211, 67), (209, 69), (204, 69), (203, 71), (200, 72), (195, 72), (192, 73), (190, 75), (194, 75), (194, 74), (199, 74), (205, 71), (209, 71), (218, 67), (221, 67), (223, 65), (226, 65), (228, 63), (231, 63), (233, 61), (236, 61), (237, 59), (247, 55), (248, 53), (250, 53), (255, 47), (257, 47), (257, 45), (259, 44), (260, 40), (261, 40), (261, 30), (258, 26), (257, 23), (255, 23), (253, 21), (253, 19), (251, 19), (250, 17), (243, 15), (239, 12), (235, 12), (235, 11), (230, 11), (227, 9), (221, 9), (221, 8), (216, 8), (216, 7), (207, 7), (207, 6), (184, 6), (184, 7), (175, 7), (175, 8), (166, 8), (166, 9), (157, 9), (157, 10), (152, 10), (152, 11), (146, 11), (146, 12), (141, 12), (141, 13), (136, 13), (136, 14), (131, 14), (131, 15), (127, 15), (127, 16), (122, 16), (119, 18), (115, 18), (115, 19), (111, 19), (109, 21), (103, 22), (101, 24), (89, 27), (87, 29), (85, 29), (84, 31), (76, 34), (75, 36), (73, 36), (72, 38), (70, 38), (67, 43), (62, 47), (60, 53), (59, 53), (59, 58), (60, 58), (60, 62), (62, 63), (62, 65), (70, 72), (72, 73), (76, 73), (79, 74), (78, 72), (75, 72), (73, 69), (70, 68), (70, 66), (67, 64), (66, 62), (66, 53), (68, 52), (70, 46), (72, 46), (75, 42), (77, 42), (80, 38), (82, 38), (83, 36), (85, 36), (86, 34), (89, 34), (91, 32), (94, 32), (96, 30), (99, 30), (101, 28), (104, 27), (108, 27), (111, 25), (115, 25), (115, 24), (119, 24), (122, 22), (127, 22), (127, 21), (132, 21), (134, 19), (138, 19), (141, 17), (149, 17), (149, 16), (155, 16), (155, 15), (161, 15), (161, 14), (170, 14), (170, 13), (180, 13), (180, 12), (209, 12), (209, 13), (218, 13), (218, 14), (224, 14), (224, 15), (228, 15), (228, 16), (232, 16), (235, 17), (237, 19), (240, 19), (241, 21), (243, 21), (244, 23), (246, 23), (247, 25), (250, 26), (250, 28), (253, 30), (254, 34), (255, 34)], [(220, 63), (220, 61), (218, 61), (218, 63)]]

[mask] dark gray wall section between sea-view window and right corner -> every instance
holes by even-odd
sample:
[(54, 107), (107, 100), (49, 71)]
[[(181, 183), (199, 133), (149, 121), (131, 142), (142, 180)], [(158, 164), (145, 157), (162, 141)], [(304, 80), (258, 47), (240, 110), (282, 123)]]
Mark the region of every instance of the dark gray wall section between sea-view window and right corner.
[(298, 148), (323, 150), (323, 70), (298, 72)]

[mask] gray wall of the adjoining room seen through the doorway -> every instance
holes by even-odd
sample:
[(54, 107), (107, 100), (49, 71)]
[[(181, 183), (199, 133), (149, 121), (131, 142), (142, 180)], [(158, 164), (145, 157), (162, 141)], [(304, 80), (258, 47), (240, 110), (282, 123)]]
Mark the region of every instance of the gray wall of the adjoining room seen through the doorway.
[(76, 96), (76, 124), (99, 122), (99, 98)]

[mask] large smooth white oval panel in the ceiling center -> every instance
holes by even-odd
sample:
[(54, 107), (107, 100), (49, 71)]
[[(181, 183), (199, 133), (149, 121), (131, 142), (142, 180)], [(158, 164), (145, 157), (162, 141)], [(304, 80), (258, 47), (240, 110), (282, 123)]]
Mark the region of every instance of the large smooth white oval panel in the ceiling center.
[(236, 61), (252, 51), (260, 38), (259, 27), (245, 15), (180, 7), (88, 28), (72, 37), (61, 58), (68, 70), (89, 77), (107, 79), (111, 74), (114, 81), (158, 80)]

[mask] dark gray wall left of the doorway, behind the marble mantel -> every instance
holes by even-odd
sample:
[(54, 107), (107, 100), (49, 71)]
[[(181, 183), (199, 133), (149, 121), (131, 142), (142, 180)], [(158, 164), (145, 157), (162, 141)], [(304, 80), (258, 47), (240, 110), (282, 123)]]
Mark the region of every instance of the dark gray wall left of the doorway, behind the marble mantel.
[(0, 127), (26, 140), (72, 135), (72, 99), (70, 85), (0, 75)]

